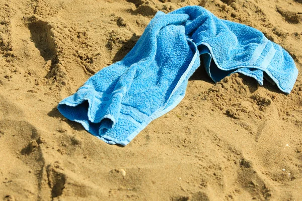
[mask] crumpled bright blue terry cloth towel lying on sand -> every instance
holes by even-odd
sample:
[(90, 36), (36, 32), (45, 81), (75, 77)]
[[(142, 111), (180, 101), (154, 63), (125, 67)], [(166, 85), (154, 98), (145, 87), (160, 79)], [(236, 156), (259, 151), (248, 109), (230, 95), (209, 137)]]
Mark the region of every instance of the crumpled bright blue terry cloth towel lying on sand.
[(289, 54), (260, 31), (188, 6), (158, 12), (121, 61), (90, 77), (58, 110), (105, 142), (127, 145), (180, 103), (200, 57), (215, 82), (240, 72), (262, 85), (268, 76), (289, 93), (298, 73)]

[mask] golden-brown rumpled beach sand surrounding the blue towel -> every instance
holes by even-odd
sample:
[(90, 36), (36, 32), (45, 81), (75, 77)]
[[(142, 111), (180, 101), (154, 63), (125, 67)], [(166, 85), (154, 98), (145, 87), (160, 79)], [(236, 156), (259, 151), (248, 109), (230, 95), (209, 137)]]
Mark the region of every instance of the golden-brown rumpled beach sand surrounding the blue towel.
[(123, 58), (157, 11), (200, 5), (262, 31), (302, 72), (300, 0), (1, 0), (0, 200), (302, 200), (302, 77), (289, 95), (202, 68), (126, 147), (56, 106)]

